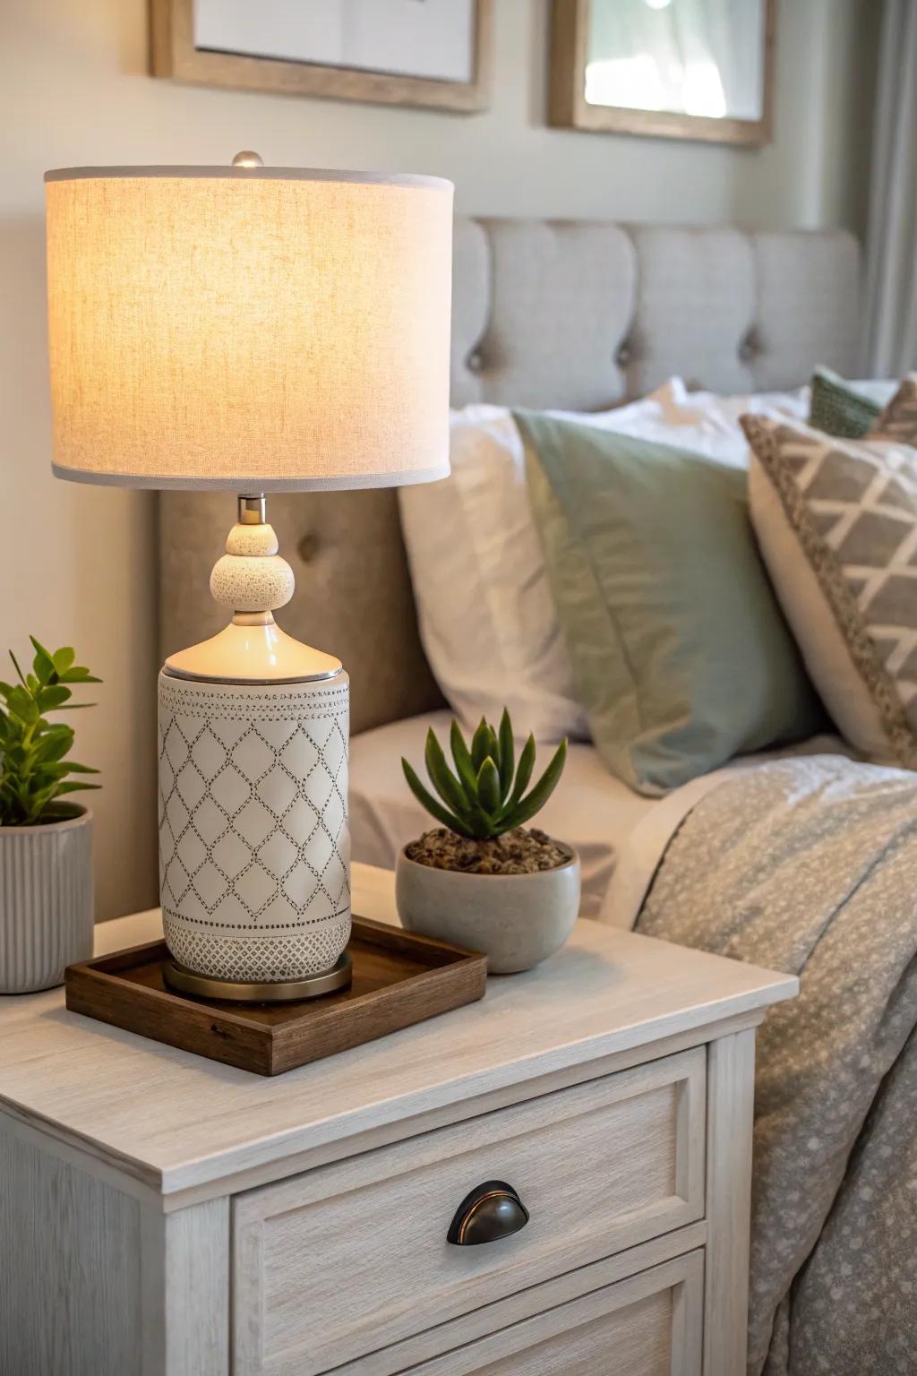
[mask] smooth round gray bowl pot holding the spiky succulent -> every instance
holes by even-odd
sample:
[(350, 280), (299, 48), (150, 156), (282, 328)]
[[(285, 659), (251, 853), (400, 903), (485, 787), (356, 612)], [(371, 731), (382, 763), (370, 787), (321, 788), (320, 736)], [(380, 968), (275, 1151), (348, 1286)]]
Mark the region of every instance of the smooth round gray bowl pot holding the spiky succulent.
[(580, 905), (580, 861), (536, 874), (462, 874), (397, 857), (395, 899), (408, 932), (487, 955), (488, 974), (531, 970), (558, 951)]

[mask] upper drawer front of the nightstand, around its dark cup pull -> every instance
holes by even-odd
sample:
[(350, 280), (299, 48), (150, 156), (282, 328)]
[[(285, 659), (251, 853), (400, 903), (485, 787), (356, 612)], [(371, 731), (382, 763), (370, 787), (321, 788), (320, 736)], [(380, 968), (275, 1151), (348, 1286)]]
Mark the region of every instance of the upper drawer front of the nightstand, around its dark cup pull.
[[(696, 1049), (239, 1196), (236, 1376), (318, 1376), (701, 1218), (704, 1115)], [(495, 1179), (528, 1225), (447, 1243)]]

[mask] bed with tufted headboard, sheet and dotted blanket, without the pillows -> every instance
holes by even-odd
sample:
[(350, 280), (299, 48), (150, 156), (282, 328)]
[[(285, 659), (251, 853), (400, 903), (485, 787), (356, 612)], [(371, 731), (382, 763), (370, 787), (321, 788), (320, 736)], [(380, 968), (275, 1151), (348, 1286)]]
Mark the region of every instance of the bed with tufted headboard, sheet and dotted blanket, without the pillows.
[[(844, 233), (459, 220), (452, 402), (601, 411), (674, 374), (729, 395), (851, 374), (858, 299)], [(169, 652), (219, 629), (203, 589), (225, 502), (161, 501)], [(399, 757), (450, 721), (396, 497), (283, 495), (271, 520), (297, 574), (285, 627), (352, 677), (353, 854), (390, 866), (423, 826)], [(917, 1370), (913, 817), (912, 775), (850, 761), (836, 736), (661, 799), (576, 742), (540, 817), (580, 850), (584, 915), (804, 971), (760, 1039), (749, 1372)]]

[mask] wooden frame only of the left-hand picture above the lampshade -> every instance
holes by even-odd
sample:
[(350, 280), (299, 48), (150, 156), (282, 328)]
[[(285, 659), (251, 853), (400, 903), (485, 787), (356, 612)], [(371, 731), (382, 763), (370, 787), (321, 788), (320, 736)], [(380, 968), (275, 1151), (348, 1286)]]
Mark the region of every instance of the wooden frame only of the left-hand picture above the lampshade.
[(217, 52), (194, 44), (195, 0), (150, 0), (154, 77), (230, 91), (327, 96), (374, 105), (423, 106), (472, 113), (485, 110), (491, 87), (494, 0), (474, 0), (474, 74), (447, 81), (282, 58)]

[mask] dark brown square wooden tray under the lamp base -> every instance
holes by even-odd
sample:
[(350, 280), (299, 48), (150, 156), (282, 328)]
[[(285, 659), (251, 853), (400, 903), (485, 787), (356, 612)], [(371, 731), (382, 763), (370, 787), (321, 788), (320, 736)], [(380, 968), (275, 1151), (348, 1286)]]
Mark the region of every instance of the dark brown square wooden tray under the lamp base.
[(67, 967), (73, 1013), (256, 1075), (362, 1046), (484, 995), (487, 956), (353, 918), (349, 989), (298, 1003), (228, 1003), (169, 989), (165, 941)]

